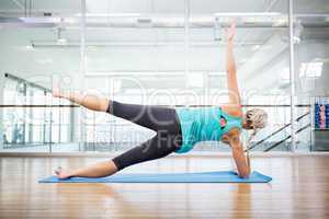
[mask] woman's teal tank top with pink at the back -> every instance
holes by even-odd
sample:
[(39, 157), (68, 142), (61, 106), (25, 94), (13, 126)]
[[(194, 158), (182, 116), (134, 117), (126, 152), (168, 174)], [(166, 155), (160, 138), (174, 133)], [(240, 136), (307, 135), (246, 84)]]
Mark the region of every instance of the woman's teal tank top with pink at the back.
[[(232, 128), (242, 128), (242, 118), (231, 116), (220, 107), (177, 108), (183, 142), (177, 153), (184, 153), (193, 149), (200, 141), (220, 141), (224, 134)], [(220, 118), (226, 120), (220, 126)]]

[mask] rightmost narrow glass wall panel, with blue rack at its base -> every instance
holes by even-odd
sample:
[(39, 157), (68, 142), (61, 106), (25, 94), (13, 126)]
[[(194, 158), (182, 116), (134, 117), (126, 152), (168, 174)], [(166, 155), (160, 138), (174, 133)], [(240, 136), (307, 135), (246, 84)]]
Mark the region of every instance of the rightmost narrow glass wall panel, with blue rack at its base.
[[(298, 123), (298, 149), (328, 151), (329, 8), (326, 0), (295, 0), (295, 67), (298, 114), (310, 115)], [(309, 124), (311, 123), (311, 126)]]

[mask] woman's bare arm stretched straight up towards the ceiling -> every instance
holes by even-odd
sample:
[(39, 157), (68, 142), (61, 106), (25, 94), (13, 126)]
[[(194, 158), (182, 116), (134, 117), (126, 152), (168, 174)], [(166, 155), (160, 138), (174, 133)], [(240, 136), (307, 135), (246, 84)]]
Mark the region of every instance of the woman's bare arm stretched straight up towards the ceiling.
[(227, 88), (230, 104), (240, 105), (240, 92), (238, 87), (236, 61), (234, 57), (234, 36), (236, 34), (236, 22), (226, 30), (226, 70)]

